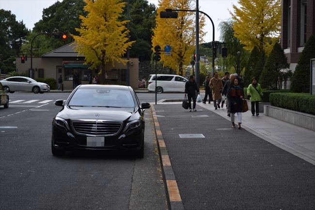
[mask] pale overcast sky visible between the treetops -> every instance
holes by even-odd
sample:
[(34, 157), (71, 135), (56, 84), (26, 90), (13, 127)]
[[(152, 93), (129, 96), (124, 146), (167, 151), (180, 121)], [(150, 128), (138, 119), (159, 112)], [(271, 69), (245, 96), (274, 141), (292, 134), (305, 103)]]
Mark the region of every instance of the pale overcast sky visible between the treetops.
[[(32, 29), (34, 24), (42, 19), (43, 9), (51, 6), (57, 0), (0, 0), (0, 9), (10, 10), (16, 15), (16, 20), (21, 21), (28, 29)], [(59, 0), (61, 1), (61, 0)], [(148, 0), (149, 3), (157, 5), (157, 0)], [(199, 0), (200, 10), (205, 12), (214, 22), (215, 40), (220, 41), (218, 25), (221, 21), (231, 17), (229, 11), (233, 12), (232, 5), (238, 5), (237, 0)], [(205, 42), (212, 41), (212, 24), (206, 17)]]

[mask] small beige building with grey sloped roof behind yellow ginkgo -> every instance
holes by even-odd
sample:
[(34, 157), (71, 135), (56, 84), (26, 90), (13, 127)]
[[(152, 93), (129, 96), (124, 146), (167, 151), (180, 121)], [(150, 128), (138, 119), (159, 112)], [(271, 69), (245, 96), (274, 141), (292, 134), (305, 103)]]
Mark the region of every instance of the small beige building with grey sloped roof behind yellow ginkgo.
[[(27, 73), (31, 78), (54, 78), (58, 81), (60, 75), (63, 77), (64, 89), (73, 89), (73, 79), (77, 74), (80, 84), (88, 84), (89, 75), (97, 75), (100, 67), (90, 69), (91, 65), (84, 64), (84, 55), (78, 54), (73, 50), (73, 45), (67, 44), (48, 52), (40, 58), (28, 58), (24, 64), (21, 59), (16, 59), (16, 71)], [(129, 85), (138, 88), (139, 79), (139, 59), (129, 59)], [(100, 75), (98, 75), (99, 77)], [(105, 66), (105, 84), (126, 85), (126, 65), (122, 63), (107, 63)]]

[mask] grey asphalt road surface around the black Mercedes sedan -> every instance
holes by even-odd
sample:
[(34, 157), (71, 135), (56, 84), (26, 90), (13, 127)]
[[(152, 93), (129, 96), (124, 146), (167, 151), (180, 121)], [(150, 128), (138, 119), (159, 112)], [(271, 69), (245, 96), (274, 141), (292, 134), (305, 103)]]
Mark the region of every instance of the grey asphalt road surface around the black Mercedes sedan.
[(9, 108), (0, 107), (0, 209), (167, 210), (150, 110), (144, 159), (77, 151), (55, 157), (51, 122), (61, 107), (53, 102), (68, 95), (14, 93)]

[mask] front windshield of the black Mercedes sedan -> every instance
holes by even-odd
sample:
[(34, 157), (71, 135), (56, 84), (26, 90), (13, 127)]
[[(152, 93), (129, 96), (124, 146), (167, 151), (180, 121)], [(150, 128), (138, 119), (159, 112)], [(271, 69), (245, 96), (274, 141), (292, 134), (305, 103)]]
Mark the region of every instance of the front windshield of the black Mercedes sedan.
[(68, 106), (135, 107), (129, 90), (111, 88), (79, 88)]

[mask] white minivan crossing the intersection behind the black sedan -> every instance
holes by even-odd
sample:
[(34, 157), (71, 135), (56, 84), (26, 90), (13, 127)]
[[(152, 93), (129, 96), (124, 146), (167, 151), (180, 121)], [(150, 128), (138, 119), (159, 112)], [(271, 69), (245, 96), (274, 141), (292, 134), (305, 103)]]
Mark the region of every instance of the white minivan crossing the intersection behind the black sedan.
[[(155, 74), (150, 74), (148, 90), (155, 92)], [(157, 93), (185, 92), (185, 83), (188, 81), (182, 76), (173, 74), (157, 74)]]

